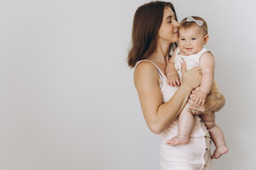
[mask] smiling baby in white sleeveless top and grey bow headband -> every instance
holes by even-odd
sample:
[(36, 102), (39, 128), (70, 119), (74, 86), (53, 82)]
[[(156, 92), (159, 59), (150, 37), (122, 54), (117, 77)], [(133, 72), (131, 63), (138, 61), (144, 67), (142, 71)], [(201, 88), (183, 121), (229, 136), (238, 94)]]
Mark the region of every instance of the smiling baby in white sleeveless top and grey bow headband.
[[(181, 84), (181, 64), (186, 62), (187, 69), (200, 67), (202, 70), (201, 86), (193, 94), (193, 101), (197, 106), (203, 106), (210, 93), (216, 93), (220, 97), (218, 85), (214, 81), (214, 56), (203, 45), (208, 42), (208, 27), (203, 18), (188, 16), (181, 21), (179, 28), (178, 46), (174, 50), (174, 55), (169, 60), (166, 67), (166, 76), (169, 85), (179, 86)], [(166, 142), (166, 145), (188, 144), (188, 137), (194, 125), (193, 114), (189, 103), (183, 108), (178, 116), (178, 135)], [(201, 115), (206, 128), (210, 132), (211, 139), (216, 147), (212, 159), (218, 159), (222, 154), (228, 152), (222, 130), (215, 125), (215, 113)]]

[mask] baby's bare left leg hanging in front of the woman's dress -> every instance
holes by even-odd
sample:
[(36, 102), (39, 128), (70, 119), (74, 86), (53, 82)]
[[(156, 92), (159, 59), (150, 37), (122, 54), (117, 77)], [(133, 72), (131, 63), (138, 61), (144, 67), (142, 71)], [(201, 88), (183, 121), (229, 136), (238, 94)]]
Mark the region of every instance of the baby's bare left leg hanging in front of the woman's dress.
[(191, 134), (191, 130), (194, 125), (194, 117), (191, 110), (188, 108), (190, 104), (186, 103), (186, 106), (178, 116), (178, 135), (166, 142), (166, 145), (182, 145), (188, 144), (188, 137)]

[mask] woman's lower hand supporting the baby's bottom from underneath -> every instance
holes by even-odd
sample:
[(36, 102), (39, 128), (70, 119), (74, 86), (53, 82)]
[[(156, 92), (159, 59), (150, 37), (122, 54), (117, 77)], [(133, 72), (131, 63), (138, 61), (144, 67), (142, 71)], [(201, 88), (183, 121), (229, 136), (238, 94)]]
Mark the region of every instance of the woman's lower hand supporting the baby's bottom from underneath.
[[(195, 105), (193, 101), (193, 94), (196, 94), (197, 89), (193, 90), (188, 103)], [(225, 105), (225, 98), (223, 95), (210, 94), (206, 98), (206, 103), (203, 106), (190, 106), (193, 115), (209, 114), (215, 111), (220, 111), (221, 108)]]

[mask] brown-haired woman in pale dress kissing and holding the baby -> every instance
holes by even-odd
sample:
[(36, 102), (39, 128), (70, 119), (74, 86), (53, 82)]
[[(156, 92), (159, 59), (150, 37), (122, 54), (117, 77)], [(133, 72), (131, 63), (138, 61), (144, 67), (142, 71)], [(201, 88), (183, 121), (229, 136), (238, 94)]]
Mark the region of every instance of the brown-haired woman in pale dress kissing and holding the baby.
[(217, 100), (211, 94), (203, 107), (191, 108), (195, 125), (188, 145), (166, 145), (166, 140), (177, 135), (178, 114), (187, 101), (193, 104), (188, 98), (201, 82), (200, 69), (197, 67), (187, 72), (183, 63), (183, 84), (179, 88), (167, 85), (165, 69), (169, 53), (178, 41), (178, 27), (171, 3), (154, 1), (140, 6), (134, 15), (128, 64), (135, 67), (134, 84), (146, 124), (152, 132), (161, 134), (161, 169), (211, 169), (210, 136), (198, 115), (204, 111), (219, 111), (225, 104), (223, 96)]

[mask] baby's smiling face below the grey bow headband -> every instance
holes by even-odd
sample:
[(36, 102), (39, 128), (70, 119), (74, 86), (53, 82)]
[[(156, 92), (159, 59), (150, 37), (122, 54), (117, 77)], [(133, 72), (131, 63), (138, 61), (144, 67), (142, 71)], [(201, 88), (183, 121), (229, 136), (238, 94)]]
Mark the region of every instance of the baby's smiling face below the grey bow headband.
[(178, 46), (181, 49), (180, 55), (196, 54), (203, 49), (204, 44), (205, 35), (199, 26), (179, 29)]

